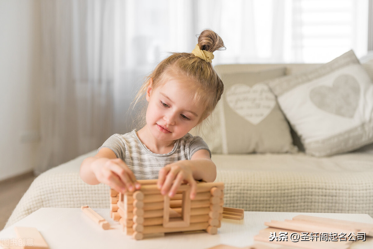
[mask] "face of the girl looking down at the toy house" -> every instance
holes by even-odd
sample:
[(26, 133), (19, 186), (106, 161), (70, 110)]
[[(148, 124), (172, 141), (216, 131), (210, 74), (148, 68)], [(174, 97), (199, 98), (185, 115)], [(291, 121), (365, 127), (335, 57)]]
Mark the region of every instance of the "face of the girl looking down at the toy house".
[(194, 86), (194, 82), (185, 78), (169, 79), (154, 90), (150, 83), (146, 94), (149, 102), (146, 123), (154, 138), (173, 141), (198, 124), (203, 107), (193, 99)]

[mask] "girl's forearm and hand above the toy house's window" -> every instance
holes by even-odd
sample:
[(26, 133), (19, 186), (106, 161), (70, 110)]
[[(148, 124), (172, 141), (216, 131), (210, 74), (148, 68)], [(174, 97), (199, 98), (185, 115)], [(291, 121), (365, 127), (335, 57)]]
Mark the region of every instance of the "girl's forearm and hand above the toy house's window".
[(206, 149), (196, 151), (191, 160), (182, 160), (168, 164), (159, 171), (157, 186), (162, 195), (174, 196), (183, 182), (191, 186), (190, 198), (197, 193), (195, 180), (213, 182), (216, 179), (216, 166), (211, 161), (210, 153)]

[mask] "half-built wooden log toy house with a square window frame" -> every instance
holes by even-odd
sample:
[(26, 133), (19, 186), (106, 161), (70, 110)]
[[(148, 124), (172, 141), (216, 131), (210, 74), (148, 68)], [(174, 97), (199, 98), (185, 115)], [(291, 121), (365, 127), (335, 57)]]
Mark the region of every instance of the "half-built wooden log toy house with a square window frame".
[(205, 230), (216, 234), (223, 218), (222, 182), (197, 183), (197, 195), (189, 198), (183, 184), (170, 198), (161, 195), (157, 180), (139, 180), (141, 189), (118, 193), (110, 189), (110, 216), (136, 240), (164, 233)]

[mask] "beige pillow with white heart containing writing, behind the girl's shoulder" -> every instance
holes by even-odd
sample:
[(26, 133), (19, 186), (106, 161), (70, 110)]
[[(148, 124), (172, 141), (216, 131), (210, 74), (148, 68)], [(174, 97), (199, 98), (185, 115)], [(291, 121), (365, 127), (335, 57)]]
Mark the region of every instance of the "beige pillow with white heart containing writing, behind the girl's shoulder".
[(213, 153), (297, 152), (275, 95), (261, 83), (284, 76), (286, 68), (229, 73), (215, 69), (224, 83), (223, 95), (209, 122), (191, 133), (200, 135)]

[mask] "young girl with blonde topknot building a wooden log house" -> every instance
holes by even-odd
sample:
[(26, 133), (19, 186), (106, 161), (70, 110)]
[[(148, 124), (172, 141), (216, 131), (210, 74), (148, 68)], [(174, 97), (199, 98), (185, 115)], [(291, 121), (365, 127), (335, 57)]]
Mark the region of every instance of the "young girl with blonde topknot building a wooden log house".
[(211, 60), (222, 39), (207, 29), (192, 53), (173, 53), (158, 64), (137, 94), (148, 101), (146, 124), (140, 130), (112, 135), (80, 168), (82, 180), (104, 183), (118, 192), (140, 189), (136, 179), (157, 179), (163, 195), (174, 196), (182, 183), (213, 182), (216, 167), (207, 144), (188, 132), (213, 111), (223, 83)]

